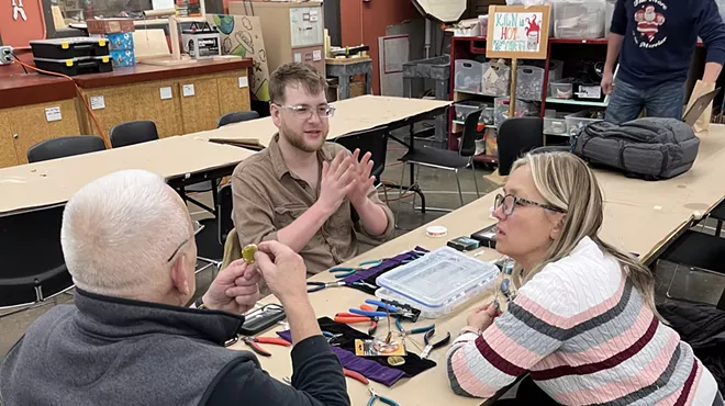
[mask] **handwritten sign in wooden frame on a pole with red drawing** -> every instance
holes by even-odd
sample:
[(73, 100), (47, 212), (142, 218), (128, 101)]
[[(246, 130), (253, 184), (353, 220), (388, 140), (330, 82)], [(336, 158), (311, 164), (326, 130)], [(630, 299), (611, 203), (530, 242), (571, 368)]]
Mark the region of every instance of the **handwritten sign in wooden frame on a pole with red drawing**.
[(488, 58), (546, 59), (549, 5), (489, 5)]

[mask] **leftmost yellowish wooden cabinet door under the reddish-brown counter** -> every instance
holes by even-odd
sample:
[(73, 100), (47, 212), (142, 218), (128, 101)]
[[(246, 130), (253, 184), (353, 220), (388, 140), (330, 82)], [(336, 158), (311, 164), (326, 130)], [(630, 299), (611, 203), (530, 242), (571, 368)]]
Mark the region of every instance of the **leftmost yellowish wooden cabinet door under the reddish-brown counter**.
[[(53, 109), (49, 119), (47, 109)], [(42, 140), (79, 134), (75, 100), (4, 109), (0, 111), (0, 167), (27, 163), (27, 149)]]

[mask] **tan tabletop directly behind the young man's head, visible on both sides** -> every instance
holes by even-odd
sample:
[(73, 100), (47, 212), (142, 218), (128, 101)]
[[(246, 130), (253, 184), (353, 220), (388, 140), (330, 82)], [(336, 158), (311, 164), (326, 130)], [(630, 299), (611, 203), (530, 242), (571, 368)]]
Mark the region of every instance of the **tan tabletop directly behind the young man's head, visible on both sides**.
[[(335, 111), (335, 116), (330, 119), (330, 134), (327, 134), (327, 139), (402, 121), (449, 104), (449, 101), (391, 98), (370, 94), (342, 100), (333, 103), (337, 110)], [(235, 139), (255, 137), (259, 139), (261, 145), (266, 146), (276, 133), (277, 127), (271, 119), (264, 117), (244, 123), (225, 125), (212, 131), (188, 134), (186, 137), (198, 139)]]

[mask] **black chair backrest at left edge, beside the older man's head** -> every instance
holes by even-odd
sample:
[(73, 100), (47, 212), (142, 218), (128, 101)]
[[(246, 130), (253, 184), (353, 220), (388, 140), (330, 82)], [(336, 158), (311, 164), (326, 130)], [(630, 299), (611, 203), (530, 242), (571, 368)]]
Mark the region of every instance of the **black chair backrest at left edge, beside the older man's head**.
[(72, 286), (60, 248), (64, 208), (0, 216), (0, 307), (35, 303)]

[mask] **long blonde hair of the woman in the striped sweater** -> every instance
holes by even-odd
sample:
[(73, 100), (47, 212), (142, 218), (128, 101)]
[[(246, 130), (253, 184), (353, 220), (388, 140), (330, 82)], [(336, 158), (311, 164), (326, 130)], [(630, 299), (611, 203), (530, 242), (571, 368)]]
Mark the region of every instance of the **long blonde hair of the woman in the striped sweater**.
[(533, 269), (523, 271), (518, 269), (514, 272), (514, 283), (517, 286), (526, 283), (547, 263), (567, 257), (582, 238), (589, 237), (620, 262), (627, 280), (659, 317), (655, 305), (652, 272), (634, 256), (599, 238), (604, 219), (602, 191), (587, 163), (569, 153), (527, 154), (514, 162), (512, 171), (524, 166), (529, 168), (536, 190), (544, 196), (546, 203), (566, 210), (567, 214), (562, 219), (561, 233), (549, 246), (544, 260)]

